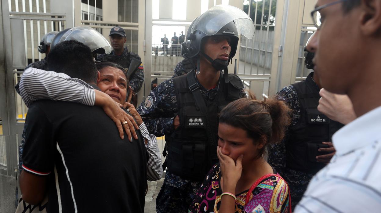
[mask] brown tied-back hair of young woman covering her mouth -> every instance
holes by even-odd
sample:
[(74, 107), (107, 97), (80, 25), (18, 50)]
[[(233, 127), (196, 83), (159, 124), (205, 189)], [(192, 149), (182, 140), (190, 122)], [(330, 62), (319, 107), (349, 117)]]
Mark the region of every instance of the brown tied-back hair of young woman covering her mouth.
[[(283, 139), (291, 122), (290, 112), (291, 109), (276, 97), (263, 101), (240, 98), (221, 111), (219, 122), (245, 130), (254, 141), (264, 140), (266, 147)], [(264, 148), (259, 156), (263, 152)]]

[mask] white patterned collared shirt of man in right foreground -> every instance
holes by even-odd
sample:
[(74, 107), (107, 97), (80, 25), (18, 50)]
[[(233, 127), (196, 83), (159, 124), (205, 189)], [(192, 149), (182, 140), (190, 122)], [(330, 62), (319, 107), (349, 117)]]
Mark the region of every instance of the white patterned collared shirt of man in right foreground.
[(332, 141), (335, 156), (311, 179), (294, 212), (381, 212), (381, 107), (341, 128)]

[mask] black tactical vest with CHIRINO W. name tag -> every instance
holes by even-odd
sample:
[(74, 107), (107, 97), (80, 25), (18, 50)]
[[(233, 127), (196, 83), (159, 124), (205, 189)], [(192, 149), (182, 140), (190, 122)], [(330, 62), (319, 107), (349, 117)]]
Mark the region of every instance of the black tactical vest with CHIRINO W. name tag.
[[(194, 83), (190, 84), (189, 79)], [(218, 113), (229, 102), (239, 99), (243, 88), (237, 75), (229, 74), (229, 84), (224, 84), (223, 79), (221, 72), (219, 89), (213, 101), (195, 99), (192, 91), (200, 90), (195, 83), (195, 71), (173, 79), (180, 125), (173, 133), (165, 135), (166, 163), (168, 171), (184, 179), (200, 181), (218, 162)], [(226, 88), (229, 91), (227, 97), (224, 93)], [(200, 110), (202, 104), (206, 105), (207, 113)]]

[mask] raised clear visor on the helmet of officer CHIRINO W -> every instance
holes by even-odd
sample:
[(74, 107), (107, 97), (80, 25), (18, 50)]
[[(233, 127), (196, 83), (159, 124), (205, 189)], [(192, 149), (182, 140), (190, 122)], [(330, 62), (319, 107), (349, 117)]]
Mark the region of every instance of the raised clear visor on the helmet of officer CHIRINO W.
[(235, 22), (238, 35), (243, 35), (248, 39), (253, 38), (255, 31), (253, 21), (245, 12), (231, 5), (216, 5), (211, 7), (195, 19), (191, 32), (200, 30), (207, 35), (215, 35), (231, 21)]

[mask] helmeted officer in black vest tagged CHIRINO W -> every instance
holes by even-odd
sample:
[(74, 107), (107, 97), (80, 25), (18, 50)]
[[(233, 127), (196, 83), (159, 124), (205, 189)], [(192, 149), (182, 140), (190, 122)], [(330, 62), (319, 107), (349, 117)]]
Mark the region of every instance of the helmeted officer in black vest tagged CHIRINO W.
[(229, 102), (246, 98), (242, 81), (227, 73), (227, 65), (239, 35), (251, 39), (254, 30), (250, 17), (234, 6), (210, 8), (192, 22), (182, 43), (182, 56), (197, 67), (159, 84), (138, 107), (148, 130), (165, 135), (163, 168), (168, 170), (157, 212), (188, 212), (200, 182), (218, 162), (217, 114)]

